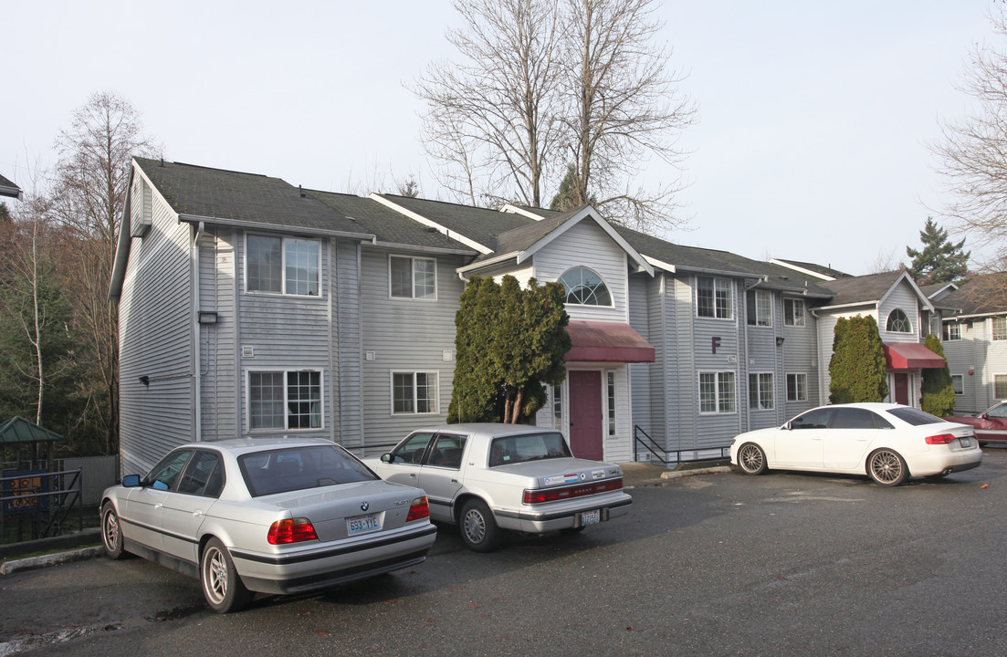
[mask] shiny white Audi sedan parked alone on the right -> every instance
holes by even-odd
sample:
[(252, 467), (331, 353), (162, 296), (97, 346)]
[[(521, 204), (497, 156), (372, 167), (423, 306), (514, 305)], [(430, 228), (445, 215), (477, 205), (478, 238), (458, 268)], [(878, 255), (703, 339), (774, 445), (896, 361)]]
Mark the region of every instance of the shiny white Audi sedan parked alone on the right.
[(866, 474), (882, 486), (911, 476), (944, 477), (982, 462), (972, 427), (897, 403), (820, 406), (782, 427), (741, 434), (731, 444), (731, 463), (745, 474)]

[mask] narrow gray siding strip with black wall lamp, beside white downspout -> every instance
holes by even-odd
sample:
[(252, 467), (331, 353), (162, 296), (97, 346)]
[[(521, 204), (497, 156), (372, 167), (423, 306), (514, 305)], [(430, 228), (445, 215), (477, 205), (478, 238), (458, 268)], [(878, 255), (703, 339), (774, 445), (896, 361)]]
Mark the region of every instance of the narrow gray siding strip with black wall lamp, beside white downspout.
[(241, 434), (238, 375), (238, 279), (234, 231), (207, 227), (199, 240), (199, 308), (217, 313), (217, 323), (197, 325), (200, 370), (200, 440), (217, 441)]

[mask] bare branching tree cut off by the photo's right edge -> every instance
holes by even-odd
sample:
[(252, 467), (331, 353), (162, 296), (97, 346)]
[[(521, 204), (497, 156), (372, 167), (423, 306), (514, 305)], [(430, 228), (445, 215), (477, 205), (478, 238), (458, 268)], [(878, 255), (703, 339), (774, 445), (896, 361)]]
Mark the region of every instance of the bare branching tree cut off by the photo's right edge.
[[(1001, 37), (1007, 37), (1005, 11), (992, 17)], [(962, 91), (978, 102), (976, 111), (945, 124), (944, 139), (931, 146), (954, 195), (945, 214), (973, 245), (994, 247), (995, 268), (1002, 270), (1007, 266), (1007, 51), (977, 46)]]

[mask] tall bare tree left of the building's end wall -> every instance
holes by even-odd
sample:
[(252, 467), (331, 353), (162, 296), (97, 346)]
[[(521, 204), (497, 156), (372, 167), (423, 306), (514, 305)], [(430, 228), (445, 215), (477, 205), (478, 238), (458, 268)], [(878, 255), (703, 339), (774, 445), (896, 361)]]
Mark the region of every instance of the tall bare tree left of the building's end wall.
[[(113, 93), (94, 94), (56, 138), (53, 211), (71, 229), (80, 248), (74, 263), (75, 318), (85, 336), (80, 354), (95, 372), (87, 391), (91, 413), (106, 432), (105, 449), (119, 449), (118, 308), (108, 300), (130, 162), (157, 156), (159, 147), (142, 134), (140, 113)], [(67, 267), (70, 265), (67, 264)], [(90, 361), (90, 362), (88, 362)]]

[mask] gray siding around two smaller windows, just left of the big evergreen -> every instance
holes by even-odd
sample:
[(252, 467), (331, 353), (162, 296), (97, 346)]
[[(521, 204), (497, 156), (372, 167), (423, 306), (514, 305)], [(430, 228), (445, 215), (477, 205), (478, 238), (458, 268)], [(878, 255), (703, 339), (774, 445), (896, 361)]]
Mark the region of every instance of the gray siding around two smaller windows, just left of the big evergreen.
[[(409, 256), (409, 254), (396, 254)], [(415, 255), (428, 258), (426, 255)], [(365, 445), (377, 447), (401, 440), (418, 426), (442, 424), (447, 418), (454, 377), (454, 316), (464, 284), (454, 274), (458, 258), (437, 258), (437, 299), (392, 299), (387, 251), (362, 253), (363, 398)], [(444, 359), (444, 352), (451, 354)], [(368, 359), (368, 355), (373, 360)], [(392, 372), (437, 372), (436, 414), (393, 415)]]

